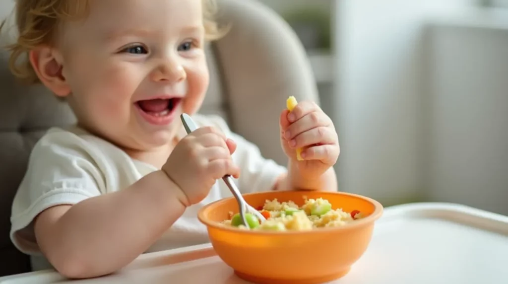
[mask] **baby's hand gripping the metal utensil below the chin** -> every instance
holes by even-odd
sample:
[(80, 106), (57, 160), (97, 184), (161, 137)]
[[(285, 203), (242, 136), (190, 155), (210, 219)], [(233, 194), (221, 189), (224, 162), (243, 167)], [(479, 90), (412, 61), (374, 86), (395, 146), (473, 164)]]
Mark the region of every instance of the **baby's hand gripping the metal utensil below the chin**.
[(238, 178), (240, 169), (231, 154), (236, 144), (213, 127), (203, 127), (185, 136), (162, 167), (183, 193), (180, 200), (189, 206), (202, 201), (215, 181), (225, 175)]

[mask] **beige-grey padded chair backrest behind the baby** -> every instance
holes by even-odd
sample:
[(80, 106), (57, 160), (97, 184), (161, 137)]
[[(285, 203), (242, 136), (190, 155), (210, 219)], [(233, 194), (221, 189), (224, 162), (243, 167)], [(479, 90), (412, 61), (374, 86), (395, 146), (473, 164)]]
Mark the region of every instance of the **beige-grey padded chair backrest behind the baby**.
[[(0, 19), (13, 1), (0, 2)], [(285, 100), (317, 101), (311, 68), (302, 45), (277, 14), (255, 0), (219, 0), (220, 19), (230, 33), (207, 49), (211, 83), (201, 113), (220, 114), (233, 131), (285, 165), (278, 118)], [(5, 44), (6, 35), (0, 36)], [(0, 275), (28, 271), (28, 258), (9, 239), (10, 210), (30, 149), (45, 130), (75, 122), (65, 103), (42, 86), (17, 83), (0, 49)]]

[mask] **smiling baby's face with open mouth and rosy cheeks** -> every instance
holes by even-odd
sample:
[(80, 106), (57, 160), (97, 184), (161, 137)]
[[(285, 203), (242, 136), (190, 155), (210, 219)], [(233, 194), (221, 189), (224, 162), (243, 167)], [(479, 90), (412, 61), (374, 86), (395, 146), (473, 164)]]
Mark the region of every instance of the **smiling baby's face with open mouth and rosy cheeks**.
[(60, 37), (69, 103), (89, 131), (130, 150), (171, 142), (208, 87), (201, 0), (91, 0)]

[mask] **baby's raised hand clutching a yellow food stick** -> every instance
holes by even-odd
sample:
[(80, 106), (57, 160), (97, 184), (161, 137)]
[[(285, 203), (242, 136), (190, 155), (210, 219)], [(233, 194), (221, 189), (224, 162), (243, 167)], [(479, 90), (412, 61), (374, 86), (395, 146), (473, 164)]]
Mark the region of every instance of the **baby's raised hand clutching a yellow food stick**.
[[(340, 148), (332, 120), (314, 102), (302, 101), (280, 114), (280, 142), (301, 174), (319, 177), (337, 162)], [(298, 161), (296, 149), (302, 148)]]

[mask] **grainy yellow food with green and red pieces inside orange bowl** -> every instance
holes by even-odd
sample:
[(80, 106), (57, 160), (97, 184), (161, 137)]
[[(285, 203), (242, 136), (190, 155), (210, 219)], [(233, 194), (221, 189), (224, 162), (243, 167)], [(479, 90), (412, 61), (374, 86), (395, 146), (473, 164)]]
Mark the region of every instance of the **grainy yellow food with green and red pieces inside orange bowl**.
[(258, 217), (247, 213), (248, 228), (243, 225), (239, 213), (230, 212), (230, 218), (221, 222), (225, 226), (239, 229), (252, 229), (264, 231), (307, 231), (323, 227), (341, 227), (362, 218), (358, 210), (345, 212), (340, 208), (332, 209), (332, 204), (323, 198), (307, 199), (303, 197), (304, 204), (298, 206), (294, 201), (279, 202), (276, 198), (266, 200), (258, 208), (266, 218), (261, 222)]

